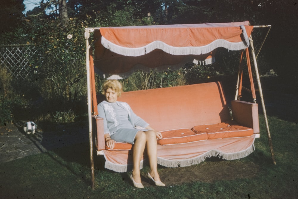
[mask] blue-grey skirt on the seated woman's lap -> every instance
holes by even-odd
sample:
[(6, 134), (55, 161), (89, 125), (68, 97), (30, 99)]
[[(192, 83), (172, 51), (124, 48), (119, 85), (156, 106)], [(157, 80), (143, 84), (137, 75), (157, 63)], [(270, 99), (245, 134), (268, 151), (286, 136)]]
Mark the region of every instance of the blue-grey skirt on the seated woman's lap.
[(119, 128), (117, 132), (111, 135), (111, 139), (116, 142), (126, 142), (129, 144), (134, 144), (134, 139), (136, 138), (136, 133), (138, 131), (149, 131), (149, 129), (135, 129), (135, 128)]

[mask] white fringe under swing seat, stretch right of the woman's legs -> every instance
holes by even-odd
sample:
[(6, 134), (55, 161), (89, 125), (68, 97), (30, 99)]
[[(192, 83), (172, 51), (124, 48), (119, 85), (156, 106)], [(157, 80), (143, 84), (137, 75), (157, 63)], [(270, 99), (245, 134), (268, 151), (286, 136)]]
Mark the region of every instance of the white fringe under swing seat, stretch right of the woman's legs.
[(245, 158), (246, 156), (250, 155), (254, 152), (254, 144), (243, 151), (235, 152), (235, 153), (224, 153), (218, 150), (211, 150), (202, 155), (199, 155), (195, 158), (187, 159), (187, 160), (179, 160), (179, 161), (172, 161), (167, 160), (164, 158), (157, 157), (157, 163), (162, 166), (166, 167), (184, 167), (184, 166), (191, 166), (194, 164), (199, 164), (204, 162), (206, 158), (221, 156), (224, 160), (235, 160), (240, 158)]

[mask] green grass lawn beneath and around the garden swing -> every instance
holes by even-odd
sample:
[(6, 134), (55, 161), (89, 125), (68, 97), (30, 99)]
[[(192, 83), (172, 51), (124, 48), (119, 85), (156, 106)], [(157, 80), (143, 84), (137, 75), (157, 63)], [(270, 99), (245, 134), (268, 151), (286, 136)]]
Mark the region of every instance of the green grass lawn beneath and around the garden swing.
[[(127, 173), (103, 169), (102, 159), (96, 157), (96, 187), (92, 190), (88, 143), (83, 143), (1, 163), (0, 198), (298, 198), (297, 124), (272, 116), (268, 122), (276, 165), (272, 164), (263, 115), (256, 150), (246, 158), (228, 161), (235, 169), (243, 164), (257, 165), (258, 172), (249, 178), (136, 189)], [(211, 167), (226, 162), (205, 161), (187, 169), (193, 172), (203, 164)]]

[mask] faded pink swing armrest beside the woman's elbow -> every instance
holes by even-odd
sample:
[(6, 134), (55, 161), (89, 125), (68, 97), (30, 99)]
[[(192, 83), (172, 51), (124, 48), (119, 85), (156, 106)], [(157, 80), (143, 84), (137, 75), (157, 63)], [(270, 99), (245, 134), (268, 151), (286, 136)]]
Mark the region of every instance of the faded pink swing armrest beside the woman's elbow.
[(96, 131), (96, 149), (104, 150), (105, 149), (105, 135), (103, 129), (103, 118), (93, 115), (93, 129)]

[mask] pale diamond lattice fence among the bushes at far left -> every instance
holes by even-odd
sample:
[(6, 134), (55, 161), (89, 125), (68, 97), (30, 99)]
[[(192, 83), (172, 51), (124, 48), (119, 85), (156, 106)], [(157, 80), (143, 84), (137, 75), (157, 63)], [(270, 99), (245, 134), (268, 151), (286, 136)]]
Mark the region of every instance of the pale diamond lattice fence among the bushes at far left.
[(0, 65), (6, 67), (18, 79), (26, 79), (36, 72), (31, 65), (32, 57), (37, 55), (41, 58), (41, 54), (35, 50), (33, 44), (0, 46), (0, 55)]

